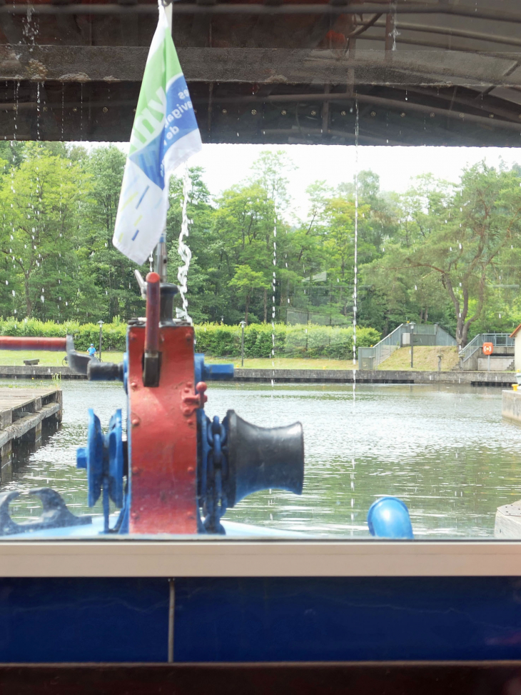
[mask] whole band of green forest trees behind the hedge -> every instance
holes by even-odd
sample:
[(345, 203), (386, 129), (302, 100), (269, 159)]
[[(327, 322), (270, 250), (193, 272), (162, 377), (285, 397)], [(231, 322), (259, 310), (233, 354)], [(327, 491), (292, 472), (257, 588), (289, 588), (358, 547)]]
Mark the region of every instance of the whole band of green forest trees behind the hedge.
[[(124, 164), (113, 145), (0, 143), (3, 319), (143, 314), (136, 266), (111, 243)], [(260, 151), (246, 180), (214, 192), (201, 169), (189, 170), (194, 323), (348, 326), (356, 318), (385, 335), (420, 321), (440, 324), (460, 346), (521, 323), (520, 166), (482, 161), (455, 181), (424, 174), (402, 194), (382, 191), (373, 171), (335, 188), (315, 181), (303, 219), (288, 194), (292, 171), (285, 152)], [(181, 177), (170, 199), (176, 282)]]

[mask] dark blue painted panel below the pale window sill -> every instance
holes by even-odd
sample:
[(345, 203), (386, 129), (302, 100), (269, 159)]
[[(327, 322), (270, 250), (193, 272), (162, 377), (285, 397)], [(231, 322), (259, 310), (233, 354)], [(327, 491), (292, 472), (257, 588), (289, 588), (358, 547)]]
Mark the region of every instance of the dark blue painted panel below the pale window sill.
[[(178, 578), (176, 662), (520, 659), (521, 579)], [(167, 579), (0, 579), (0, 662), (165, 663)]]

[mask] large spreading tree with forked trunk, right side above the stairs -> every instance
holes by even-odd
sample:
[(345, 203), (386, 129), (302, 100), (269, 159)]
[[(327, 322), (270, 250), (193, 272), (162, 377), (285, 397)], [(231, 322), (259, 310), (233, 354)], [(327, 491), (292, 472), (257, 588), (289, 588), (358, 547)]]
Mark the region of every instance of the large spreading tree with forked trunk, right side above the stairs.
[[(457, 186), (424, 176), (406, 196), (410, 236), (374, 269), (387, 269), (388, 284), (401, 277), (405, 291), (421, 285), (424, 304), (452, 306), (457, 344), (485, 309), (490, 282), (502, 266), (501, 251), (519, 246), (521, 189), (517, 171), (494, 169), (484, 162), (466, 169)], [(367, 274), (366, 274), (367, 275)], [(426, 307), (424, 307), (426, 311)]]

